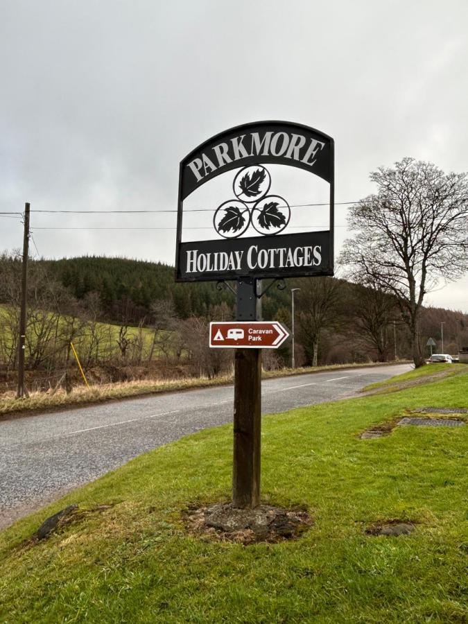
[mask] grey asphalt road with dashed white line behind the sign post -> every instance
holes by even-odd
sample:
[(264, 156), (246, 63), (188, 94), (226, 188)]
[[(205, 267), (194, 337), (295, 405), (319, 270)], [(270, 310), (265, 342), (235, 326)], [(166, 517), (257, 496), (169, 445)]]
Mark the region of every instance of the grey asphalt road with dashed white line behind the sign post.
[[(335, 370), (262, 383), (262, 413), (343, 399), (410, 365)], [(232, 386), (114, 401), (0, 422), (0, 528), (131, 458), (232, 422)]]

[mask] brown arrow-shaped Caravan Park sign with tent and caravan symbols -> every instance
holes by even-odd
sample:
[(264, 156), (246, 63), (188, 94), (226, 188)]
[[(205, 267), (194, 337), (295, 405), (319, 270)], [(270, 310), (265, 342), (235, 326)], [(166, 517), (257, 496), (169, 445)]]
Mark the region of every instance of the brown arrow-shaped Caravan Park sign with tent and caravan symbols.
[(215, 349), (277, 349), (288, 336), (288, 331), (277, 321), (209, 324), (209, 346)]

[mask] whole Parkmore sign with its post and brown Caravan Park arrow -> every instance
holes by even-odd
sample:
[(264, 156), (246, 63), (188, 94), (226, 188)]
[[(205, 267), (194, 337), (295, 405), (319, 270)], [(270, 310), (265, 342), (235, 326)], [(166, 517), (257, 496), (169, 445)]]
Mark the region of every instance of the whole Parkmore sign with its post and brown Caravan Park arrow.
[[(211, 323), (209, 337), (210, 347), (236, 349), (232, 478), (236, 508), (260, 503), (261, 349), (276, 349), (288, 338), (278, 322), (260, 320), (261, 297), (273, 282), (286, 277), (333, 275), (333, 151), (333, 139), (314, 128), (259, 121), (211, 137), (180, 163), (175, 280), (237, 282), (236, 321)], [(266, 164), (302, 169), (329, 184), (328, 229), (318, 232), (304, 226), (305, 231), (298, 232), (294, 226), (295, 232), (284, 231), (291, 206), (278, 188), (280, 178), (273, 180)], [(216, 237), (201, 241), (191, 235), (184, 240), (184, 202), (218, 175), (227, 184), (225, 196), (210, 215), (208, 229), (212, 227)], [(204, 228), (198, 223), (198, 229)], [(261, 292), (260, 280), (267, 278), (273, 281)]]

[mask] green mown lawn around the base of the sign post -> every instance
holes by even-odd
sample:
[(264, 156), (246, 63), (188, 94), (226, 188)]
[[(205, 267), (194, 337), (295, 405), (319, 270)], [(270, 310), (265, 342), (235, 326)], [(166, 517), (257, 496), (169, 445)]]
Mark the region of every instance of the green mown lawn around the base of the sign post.
[[(132, 460), (0, 533), (0, 621), (99, 623), (462, 623), (468, 426), (358, 434), (422, 406), (467, 407), (466, 370), (385, 395), (263, 419), (262, 499), (315, 519), (297, 541), (202, 541), (191, 503), (229, 499), (232, 426)], [(65, 505), (87, 514), (25, 543)], [(103, 512), (96, 505), (114, 503)], [(413, 521), (369, 537), (382, 519)]]

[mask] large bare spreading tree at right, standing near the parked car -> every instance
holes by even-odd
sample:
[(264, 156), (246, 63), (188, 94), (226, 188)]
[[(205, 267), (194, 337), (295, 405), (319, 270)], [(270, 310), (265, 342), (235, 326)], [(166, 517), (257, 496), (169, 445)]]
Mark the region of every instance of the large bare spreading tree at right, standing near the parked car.
[(340, 263), (347, 277), (374, 284), (397, 297), (410, 329), (415, 366), (424, 363), (418, 338), (424, 295), (468, 267), (468, 177), (404, 158), (370, 175), (376, 195), (351, 208)]

